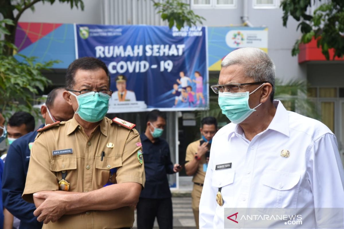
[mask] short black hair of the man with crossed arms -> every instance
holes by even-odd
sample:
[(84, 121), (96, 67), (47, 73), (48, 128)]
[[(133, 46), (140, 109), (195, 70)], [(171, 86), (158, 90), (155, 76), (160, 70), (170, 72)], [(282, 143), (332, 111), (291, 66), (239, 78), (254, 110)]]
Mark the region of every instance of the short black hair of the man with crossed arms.
[(105, 63), (97, 58), (94, 57), (82, 57), (79, 59), (76, 59), (70, 64), (67, 68), (66, 73), (66, 89), (71, 90), (74, 87), (75, 81), (75, 73), (77, 70), (97, 70), (97, 69), (103, 69), (109, 79), (109, 87), (110, 87), (110, 76), (109, 76), (109, 70), (106, 67)]

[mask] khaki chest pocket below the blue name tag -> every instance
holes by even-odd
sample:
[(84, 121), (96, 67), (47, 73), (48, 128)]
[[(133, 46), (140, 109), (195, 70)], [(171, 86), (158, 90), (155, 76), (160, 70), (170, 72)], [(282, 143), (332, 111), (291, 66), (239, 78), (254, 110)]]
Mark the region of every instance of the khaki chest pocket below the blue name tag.
[(69, 191), (76, 191), (78, 175), (76, 171), (76, 158), (61, 157), (50, 159), (50, 170), (56, 172), (57, 181), (62, 179), (62, 173), (66, 173), (65, 180), (69, 182)]

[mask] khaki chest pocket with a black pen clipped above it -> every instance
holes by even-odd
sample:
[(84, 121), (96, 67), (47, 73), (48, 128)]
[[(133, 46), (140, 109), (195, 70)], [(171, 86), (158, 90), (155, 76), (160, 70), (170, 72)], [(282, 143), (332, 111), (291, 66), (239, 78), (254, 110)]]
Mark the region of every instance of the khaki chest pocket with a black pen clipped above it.
[[(98, 188), (104, 187), (105, 184), (108, 183), (111, 174), (110, 170), (121, 167), (122, 166), (122, 157), (120, 156), (110, 156), (110, 157), (103, 157), (101, 160), (101, 156), (96, 156), (96, 183)], [(113, 170), (112, 170), (113, 171)], [(116, 183), (116, 172), (112, 175), (111, 181), (112, 183)]]

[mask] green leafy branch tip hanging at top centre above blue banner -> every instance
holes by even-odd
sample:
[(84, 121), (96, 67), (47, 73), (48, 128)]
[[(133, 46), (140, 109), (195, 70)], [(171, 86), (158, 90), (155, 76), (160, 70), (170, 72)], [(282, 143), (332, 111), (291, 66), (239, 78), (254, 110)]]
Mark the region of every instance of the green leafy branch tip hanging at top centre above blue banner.
[(180, 30), (184, 25), (191, 27), (197, 23), (202, 24), (202, 21), (205, 20), (190, 10), (189, 4), (183, 3), (181, 0), (153, 1), (153, 3), (158, 13), (161, 13), (161, 19), (169, 22), (170, 28), (175, 25)]

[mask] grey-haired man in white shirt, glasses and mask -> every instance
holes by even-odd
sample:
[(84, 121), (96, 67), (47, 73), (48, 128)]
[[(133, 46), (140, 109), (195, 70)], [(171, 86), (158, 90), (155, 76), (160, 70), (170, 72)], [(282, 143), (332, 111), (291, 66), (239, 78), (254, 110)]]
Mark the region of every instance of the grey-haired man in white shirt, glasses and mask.
[[(273, 100), (275, 65), (269, 56), (258, 48), (231, 52), (218, 84), (212, 89), (232, 123), (212, 141), (200, 228), (259, 228), (245, 216), (254, 208), (262, 215), (276, 214), (277, 208), (299, 215), (303, 225), (313, 225), (307, 228), (343, 228), (344, 171), (336, 137), (321, 122)], [(337, 208), (331, 211), (337, 215), (323, 214), (324, 208)], [(259, 226), (287, 225), (277, 221)]]

